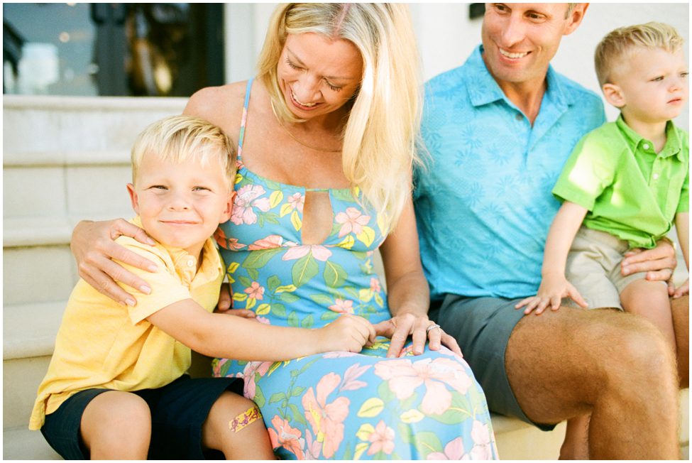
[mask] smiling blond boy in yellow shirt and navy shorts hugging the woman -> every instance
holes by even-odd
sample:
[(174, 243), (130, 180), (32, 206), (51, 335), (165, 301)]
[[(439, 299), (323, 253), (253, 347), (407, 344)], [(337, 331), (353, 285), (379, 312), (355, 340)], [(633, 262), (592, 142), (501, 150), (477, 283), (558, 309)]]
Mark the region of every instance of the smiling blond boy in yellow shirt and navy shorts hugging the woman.
[(79, 280), (29, 428), (65, 459), (204, 459), (210, 450), (273, 459), (259, 410), (233, 392), (242, 383), (191, 379), (190, 349), (279, 361), (359, 352), (374, 329), (350, 315), (313, 330), (212, 313), (224, 267), (209, 237), (230, 217), (236, 165), (221, 129), (189, 116), (158, 121), (138, 137), (132, 165), (132, 222), (156, 243), (118, 241), (158, 263), (146, 275), (152, 290), (130, 307)]

